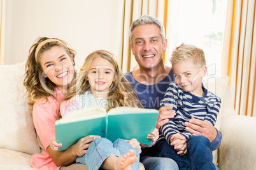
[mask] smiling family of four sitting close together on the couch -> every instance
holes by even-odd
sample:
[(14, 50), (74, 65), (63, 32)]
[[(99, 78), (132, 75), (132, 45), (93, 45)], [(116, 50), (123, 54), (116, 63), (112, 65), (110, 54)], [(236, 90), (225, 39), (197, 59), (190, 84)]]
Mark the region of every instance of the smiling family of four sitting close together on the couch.
[[(42, 37), (32, 45), (24, 85), (42, 144), (42, 152), (32, 155), (32, 167), (218, 169), (212, 150), (217, 150), (222, 140), (222, 133), (214, 127), (220, 98), (202, 86), (207, 72), (203, 50), (181, 44), (173, 51), (173, 68), (164, 65), (164, 26), (148, 15), (132, 22), (130, 38), (139, 69), (124, 75), (108, 51), (90, 53), (77, 74), (76, 52), (65, 41)], [(107, 111), (120, 106), (159, 110), (155, 130), (147, 136), (154, 145), (140, 145), (136, 139), (112, 143), (92, 134), (57, 151), (62, 145), (55, 141), (55, 121), (67, 114), (65, 108), (85, 109), (82, 101), (75, 100), (81, 95), (106, 100), (103, 107)]]

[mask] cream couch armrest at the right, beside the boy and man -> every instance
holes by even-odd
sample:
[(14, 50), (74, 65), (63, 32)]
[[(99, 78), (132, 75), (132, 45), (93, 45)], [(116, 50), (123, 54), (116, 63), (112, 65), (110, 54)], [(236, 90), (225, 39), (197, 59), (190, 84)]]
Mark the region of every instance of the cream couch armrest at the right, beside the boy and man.
[(256, 169), (256, 117), (222, 117), (222, 144), (218, 149), (220, 169)]

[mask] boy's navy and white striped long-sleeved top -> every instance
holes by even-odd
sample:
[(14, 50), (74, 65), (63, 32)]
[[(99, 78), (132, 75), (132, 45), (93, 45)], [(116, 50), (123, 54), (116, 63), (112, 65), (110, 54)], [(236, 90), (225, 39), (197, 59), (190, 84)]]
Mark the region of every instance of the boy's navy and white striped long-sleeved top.
[[(203, 88), (203, 87), (202, 87)], [(180, 89), (175, 82), (169, 84), (161, 107), (172, 106), (176, 115), (160, 128), (159, 140), (165, 138), (170, 144), (173, 134), (180, 133), (185, 138), (192, 134), (185, 131), (184, 123), (191, 117), (206, 121), (214, 126), (220, 110), (220, 98), (203, 88), (204, 96), (198, 97)]]

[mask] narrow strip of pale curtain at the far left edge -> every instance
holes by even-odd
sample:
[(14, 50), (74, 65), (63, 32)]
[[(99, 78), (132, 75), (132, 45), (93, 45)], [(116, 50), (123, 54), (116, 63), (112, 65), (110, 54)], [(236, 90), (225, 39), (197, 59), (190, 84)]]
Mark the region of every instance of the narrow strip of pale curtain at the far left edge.
[(5, 0), (0, 0), (0, 65), (4, 64), (4, 16)]

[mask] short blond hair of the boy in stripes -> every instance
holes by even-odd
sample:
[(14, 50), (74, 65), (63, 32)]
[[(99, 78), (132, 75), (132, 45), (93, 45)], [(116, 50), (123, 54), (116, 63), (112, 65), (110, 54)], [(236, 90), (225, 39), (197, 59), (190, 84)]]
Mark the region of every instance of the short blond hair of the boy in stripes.
[(173, 65), (187, 60), (193, 60), (194, 67), (198, 69), (206, 65), (203, 49), (197, 48), (191, 44), (181, 43), (180, 46), (173, 50), (170, 62)]

